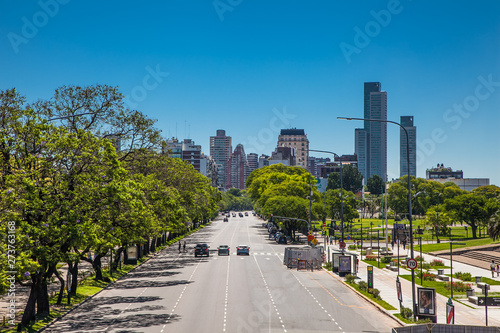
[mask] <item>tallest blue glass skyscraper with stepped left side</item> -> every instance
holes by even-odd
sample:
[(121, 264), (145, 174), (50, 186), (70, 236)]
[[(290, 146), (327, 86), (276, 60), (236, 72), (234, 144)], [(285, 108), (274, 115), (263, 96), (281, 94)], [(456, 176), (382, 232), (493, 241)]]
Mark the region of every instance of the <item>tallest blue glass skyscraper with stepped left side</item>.
[[(380, 82), (365, 82), (364, 118), (387, 120), (387, 92), (380, 90)], [(364, 128), (354, 132), (359, 171), (364, 183), (373, 175), (387, 176), (387, 123), (365, 121)]]

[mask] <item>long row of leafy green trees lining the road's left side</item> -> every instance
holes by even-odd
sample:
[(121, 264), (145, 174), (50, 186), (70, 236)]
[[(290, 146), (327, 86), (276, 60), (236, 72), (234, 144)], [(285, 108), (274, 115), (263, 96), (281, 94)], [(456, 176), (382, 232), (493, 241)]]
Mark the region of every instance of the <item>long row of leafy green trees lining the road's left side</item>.
[(102, 279), (109, 251), (119, 259), (132, 244), (154, 249), (165, 233), (217, 213), (220, 193), (162, 154), (162, 143), (154, 121), (126, 109), (114, 87), (61, 87), (33, 104), (0, 92), (0, 225), (14, 235), (0, 243), (0, 281), (16, 271), (31, 285), (20, 327), (49, 314), (53, 276), (61, 302), (58, 263), (68, 264), (75, 294), (81, 261)]

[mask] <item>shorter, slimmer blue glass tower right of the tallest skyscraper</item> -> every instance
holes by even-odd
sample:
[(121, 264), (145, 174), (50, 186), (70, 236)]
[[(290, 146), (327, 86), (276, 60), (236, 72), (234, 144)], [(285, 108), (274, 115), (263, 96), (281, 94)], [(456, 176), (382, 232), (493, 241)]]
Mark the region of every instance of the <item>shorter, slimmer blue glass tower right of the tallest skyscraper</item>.
[[(417, 177), (417, 128), (413, 126), (413, 116), (401, 116), (401, 125), (408, 132), (410, 148), (410, 175)], [(406, 154), (406, 134), (399, 130), (399, 176), (408, 174), (408, 155)]]

